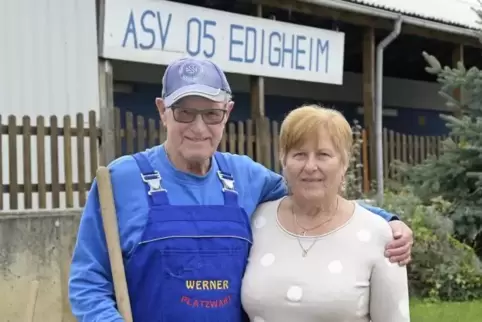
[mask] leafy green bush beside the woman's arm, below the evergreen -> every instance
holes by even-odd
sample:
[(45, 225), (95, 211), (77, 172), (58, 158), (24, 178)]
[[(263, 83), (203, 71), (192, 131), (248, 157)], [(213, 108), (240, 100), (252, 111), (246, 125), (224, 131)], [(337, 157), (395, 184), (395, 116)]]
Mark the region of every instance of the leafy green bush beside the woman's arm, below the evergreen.
[(441, 198), (428, 206), (410, 188), (387, 192), (384, 209), (399, 214), (413, 230), (413, 261), (408, 266), (410, 292), (431, 300), (482, 298), (482, 266), (474, 250), (453, 237), (453, 223), (443, 214), (451, 204)]

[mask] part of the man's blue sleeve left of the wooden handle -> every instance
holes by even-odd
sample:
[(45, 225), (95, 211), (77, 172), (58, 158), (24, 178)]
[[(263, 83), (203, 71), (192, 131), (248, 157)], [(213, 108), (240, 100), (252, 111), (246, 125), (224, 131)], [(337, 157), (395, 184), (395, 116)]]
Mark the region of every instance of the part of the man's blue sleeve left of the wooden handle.
[(79, 322), (123, 322), (116, 309), (98, 188), (93, 182), (74, 248), (69, 278), (72, 313)]

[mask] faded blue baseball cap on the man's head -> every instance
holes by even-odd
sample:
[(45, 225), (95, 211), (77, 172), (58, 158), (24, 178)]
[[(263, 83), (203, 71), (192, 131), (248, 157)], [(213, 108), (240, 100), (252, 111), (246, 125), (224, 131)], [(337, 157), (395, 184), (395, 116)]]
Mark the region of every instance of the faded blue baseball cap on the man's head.
[(209, 60), (182, 58), (169, 64), (162, 78), (162, 98), (166, 107), (186, 96), (201, 96), (226, 102), (231, 87), (218, 65)]

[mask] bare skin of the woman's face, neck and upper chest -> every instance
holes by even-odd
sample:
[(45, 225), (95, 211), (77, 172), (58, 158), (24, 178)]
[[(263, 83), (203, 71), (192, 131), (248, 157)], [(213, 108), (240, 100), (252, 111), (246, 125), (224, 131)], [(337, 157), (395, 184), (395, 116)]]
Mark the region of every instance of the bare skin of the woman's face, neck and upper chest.
[(279, 209), (279, 220), (286, 229), (316, 236), (350, 219), (355, 203), (338, 195), (347, 170), (346, 159), (346, 153), (336, 151), (326, 139), (305, 142), (282, 156), (283, 173), (292, 193)]

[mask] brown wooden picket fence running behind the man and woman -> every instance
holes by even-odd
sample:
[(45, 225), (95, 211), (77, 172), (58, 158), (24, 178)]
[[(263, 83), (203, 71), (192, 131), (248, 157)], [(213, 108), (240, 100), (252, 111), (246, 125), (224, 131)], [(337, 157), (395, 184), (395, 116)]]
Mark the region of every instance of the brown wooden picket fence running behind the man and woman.
[[(97, 167), (106, 163), (103, 149), (111, 148), (114, 157), (119, 157), (166, 138), (158, 120), (130, 112), (121, 115), (118, 109), (111, 113), (113, 142), (102, 142), (105, 130), (99, 127), (93, 111), (87, 120), (82, 114), (76, 115), (75, 122), (71, 116), (40, 116), (33, 120), (25, 116), (21, 121), (14, 116), (0, 116), (0, 210), (82, 207)], [(278, 122), (267, 119), (230, 122), (219, 149), (248, 155), (279, 172), (278, 131)], [(396, 179), (389, 168), (393, 160), (418, 163), (430, 154), (438, 154), (442, 137), (403, 135), (385, 129), (383, 139), (385, 176)], [(365, 141), (364, 169), (368, 169), (367, 154)], [(367, 182), (366, 170), (363, 176)]]

